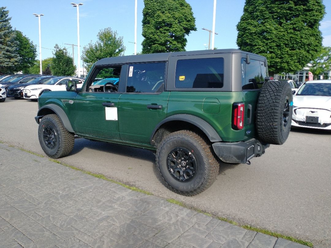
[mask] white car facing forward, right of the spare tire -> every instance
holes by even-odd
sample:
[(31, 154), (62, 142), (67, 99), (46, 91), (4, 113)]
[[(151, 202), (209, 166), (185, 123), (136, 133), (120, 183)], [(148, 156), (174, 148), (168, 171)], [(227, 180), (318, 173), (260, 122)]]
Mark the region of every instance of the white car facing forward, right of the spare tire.
[(300, 86), (293, 96), (292, 126), (331, 130), (331, 80)]

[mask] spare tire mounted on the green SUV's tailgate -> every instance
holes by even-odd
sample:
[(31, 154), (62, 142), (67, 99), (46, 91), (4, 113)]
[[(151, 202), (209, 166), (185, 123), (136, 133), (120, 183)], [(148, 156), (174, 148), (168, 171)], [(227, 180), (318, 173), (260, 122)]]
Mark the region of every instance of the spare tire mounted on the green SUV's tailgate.
[(282, 145), (292, 122), (293, 93), (288, 82), (264, 83), (257, 105), (257, 131), (261, 142)]

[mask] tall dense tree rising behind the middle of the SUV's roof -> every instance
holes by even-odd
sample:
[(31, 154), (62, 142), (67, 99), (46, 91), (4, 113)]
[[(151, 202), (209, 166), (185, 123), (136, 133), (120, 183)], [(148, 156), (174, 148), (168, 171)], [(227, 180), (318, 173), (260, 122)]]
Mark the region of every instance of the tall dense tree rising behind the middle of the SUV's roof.
[(196, 31), (185, 0), (144, 0), (142, 53), (185, 51), (186, 35)]

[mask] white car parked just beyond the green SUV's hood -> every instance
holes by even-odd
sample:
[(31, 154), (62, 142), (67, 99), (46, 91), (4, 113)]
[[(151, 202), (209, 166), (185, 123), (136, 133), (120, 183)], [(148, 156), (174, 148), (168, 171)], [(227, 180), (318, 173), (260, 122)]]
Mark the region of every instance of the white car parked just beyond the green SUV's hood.
[(43, 84), (26, 86), (23, 89), (23, 98), (26, 100), (36, 100), (44, 91), (66, 90), (66, 83), (69, 80), (78, 81), (77, 88), (83, 85), (84, 80), (76, 77), (54, 77)]

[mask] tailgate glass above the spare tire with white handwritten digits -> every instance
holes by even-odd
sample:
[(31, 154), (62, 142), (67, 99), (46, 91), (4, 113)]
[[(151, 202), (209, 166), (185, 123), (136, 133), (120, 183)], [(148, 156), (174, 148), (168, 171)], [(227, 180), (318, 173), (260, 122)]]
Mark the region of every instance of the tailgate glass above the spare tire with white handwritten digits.
[(262, 87), (266, 77), (266, 67), (264, 62), (250, 60), (246, 63), (246, 58), (241, 59), (241, 80), (243, 90), (254, 90)]

